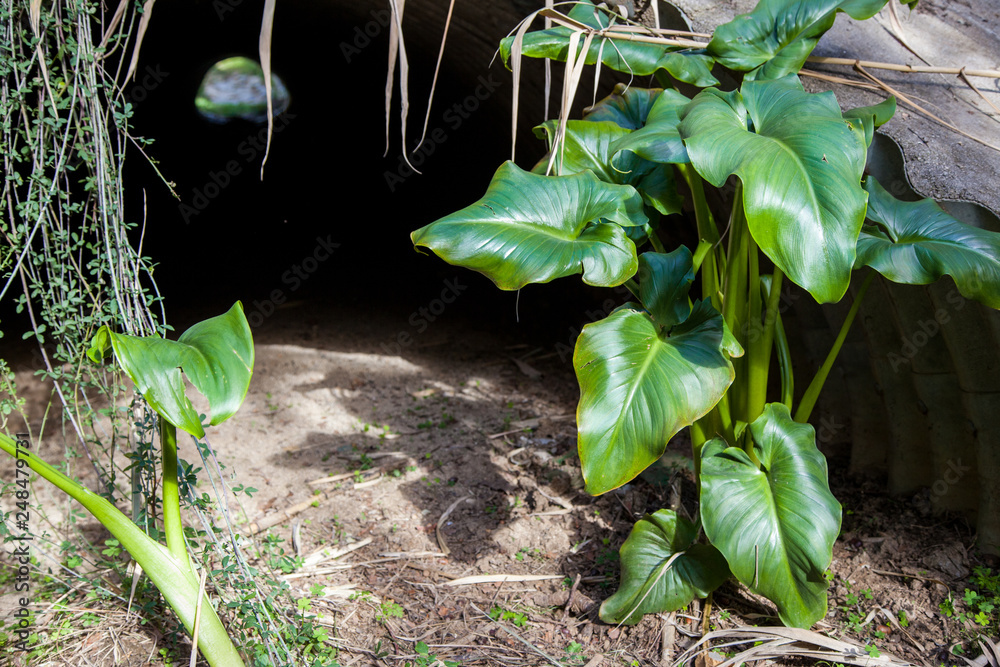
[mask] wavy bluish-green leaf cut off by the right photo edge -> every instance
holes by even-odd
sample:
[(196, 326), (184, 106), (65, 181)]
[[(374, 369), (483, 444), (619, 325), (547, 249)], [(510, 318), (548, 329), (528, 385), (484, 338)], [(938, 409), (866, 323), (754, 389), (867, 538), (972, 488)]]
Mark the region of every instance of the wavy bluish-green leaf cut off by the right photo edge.
[(951, 217), (932, 199), (899, 201), (869, 176), (868, 219), (858, 266), (889, 280), (926, 285), (949, 275), (962, 296), (1000, 308), (1000, 234)]

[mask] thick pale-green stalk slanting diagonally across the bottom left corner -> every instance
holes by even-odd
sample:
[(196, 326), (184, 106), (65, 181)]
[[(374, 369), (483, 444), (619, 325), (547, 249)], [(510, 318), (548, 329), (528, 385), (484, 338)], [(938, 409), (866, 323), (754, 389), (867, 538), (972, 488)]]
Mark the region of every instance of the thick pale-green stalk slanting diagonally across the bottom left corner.
[[(175, 558), (168, 549), (146, 535), (106, 498), (74, 482), (36, 457), (34, 453), (24, 449), (19, 450), (16, 443), (3, 433), (0, 433), (0, 449), (15, 458), (26, 460), (32, 470), (93, 514), (115, 536), (160, 590), (187, 631), (193, 633), (198, 598), (204, 594), (199, 590), (198, 579), (191, 569), (187, 553), (183, 559)], [(202, 600), (198, 648), (212, 667), (245, 667), (239, 652), (226, 634), (222, 621), (215, 613), (211, 600), (207, 597), (203, 597)]]

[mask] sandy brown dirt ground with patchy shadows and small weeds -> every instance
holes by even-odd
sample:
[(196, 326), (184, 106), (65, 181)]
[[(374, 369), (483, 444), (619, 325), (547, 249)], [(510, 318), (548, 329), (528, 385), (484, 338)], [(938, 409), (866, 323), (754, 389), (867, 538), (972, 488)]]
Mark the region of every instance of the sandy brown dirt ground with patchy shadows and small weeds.
[[(254, 332), (243, 408), (209, 439), (230, 484), (257, 489), (252, 498), (230, 494), (242, 505), (240, 532), (270, 526), (256, 537), (278, 536), (304, 559), (282, 576), (328, 624), (339, 664), (441, 664), (416, 653), (420, 641), (445, 664), (664, 665), (703, 630), (776, 623), (766, 600), (733, 582), (715, 593), (707, 616), (696, 603), (634, 627), (599, 621), (633, 522), (672, 499), (693, 511), (693, 485), (679, 437), (662, 465), (633, 483), (599, 498), (583, 492), (577, 390), (561, 345), (442, 317), (397, 348), (400, 332), (416, 333), (404, 319), (312, 304), (279, 315)], [(25, 371), (18, 379), (40, 417), (47, 393)], [(57, 440), (46, 438), (40, 454), (61, 456)], [(180, 456), (197, 460), (190, 442)], [(939, 606), (960, 598), (984, 563), (969, 524), (933, 515), (926, 497), (889, 498), (879, 480), (850, 479), (847, 463), (831, 459), (845, 512), (830, 612), (814, 630), (875, 646), (899, 659), (893, 664), (964, 664), (949, 650), (977, 632)], [(36, 498), (58, 523), (70, 507), (43, 486)], [(331, 559), (324, 548), (349, 551)], [(507, 580), (463, 583), (473, 576)], [(0, 592), (4, 615), (9, 581)], [(82, 589), (79, 596), (86, 606)], [(162, 641), (156, 630), (121, 610), (106, 614), (80, 628), (72, 659), (38, 664), (163, 664), (151, 658)], [(816, 664), (794, 660), (758, 664)]]

